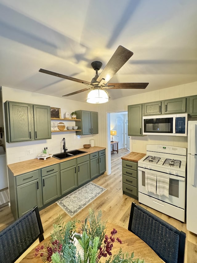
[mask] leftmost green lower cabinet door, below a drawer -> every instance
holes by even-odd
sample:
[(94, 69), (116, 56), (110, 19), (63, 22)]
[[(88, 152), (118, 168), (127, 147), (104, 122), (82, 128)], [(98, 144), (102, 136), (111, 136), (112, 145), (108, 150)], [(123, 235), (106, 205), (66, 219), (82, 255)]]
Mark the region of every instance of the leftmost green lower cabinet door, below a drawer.
[(16, 189), (18, 217), (34, 208), (36, 205), (38, 205), (38, 207), (42, 206), (42, 186), (38, 179), (17, 186)]

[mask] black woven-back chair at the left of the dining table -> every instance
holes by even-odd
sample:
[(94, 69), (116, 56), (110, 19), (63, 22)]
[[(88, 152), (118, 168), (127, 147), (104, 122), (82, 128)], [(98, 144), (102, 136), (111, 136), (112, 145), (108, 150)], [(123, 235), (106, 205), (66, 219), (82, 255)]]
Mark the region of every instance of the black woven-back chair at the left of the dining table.
[(43, 232), (36, 206), (0, 232), (0, 262), (15, 262)]

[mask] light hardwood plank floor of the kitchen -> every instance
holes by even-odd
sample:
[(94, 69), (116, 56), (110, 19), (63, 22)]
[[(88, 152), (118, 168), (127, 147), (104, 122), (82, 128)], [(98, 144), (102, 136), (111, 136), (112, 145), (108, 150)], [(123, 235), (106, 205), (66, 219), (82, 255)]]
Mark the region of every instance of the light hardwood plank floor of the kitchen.
[[(105, 187), (107, 191), (98, 196), (98, 198), (96, 198), (92, 203), (82, 209), (82, 211), (80, 211), (76, 215), (76, 218), (84, 219), (88, 214), (88, 209), (91, 207), (96, 212), (100, 209), (102, 210), (103, 220), (108, 220), (109, 222), (118, 224), (124, 228), (128, 227), (131, 202), (134, 201), (138, 204), (138, 201), (127, 195), (123, 195), (122, 192), (121, 156), (127, 153), (129, 153), (129, 151), (124, 148), (119, 150), (118, 154), (113, 153), (111, 155), (111, 175), (104, 174), (93, 180), (93, 183)], [(171, 218), (170, 216), (164, 215), (158, 211), (155, 211), (145, 205), (142, 206), (155, 215), (161, 217), (168, 223), (174, 225), (179, 230), (182, 230), (186, 233), (185, 263), (197, 263), (197, 235), (187, 231), (186, 224), (183, 224), (180, 221)], [(45, 237), (49, 236), (50, 232), (52, 232), (52, 224), (59, 214), (63, 216), (63, 219), (65, 221), (71, 220), (70, 216), (68, 216), (56, 203), (40, 211)], [(13, 221), (14, 218), (10, 211), (10, 208), (8, 206), (1, 208), (0, 230), (5, 228)], [(36, 243), (34, 244), (34, 246), (35, 245)], [(20, 262), (20, 259), (16, 262)]]

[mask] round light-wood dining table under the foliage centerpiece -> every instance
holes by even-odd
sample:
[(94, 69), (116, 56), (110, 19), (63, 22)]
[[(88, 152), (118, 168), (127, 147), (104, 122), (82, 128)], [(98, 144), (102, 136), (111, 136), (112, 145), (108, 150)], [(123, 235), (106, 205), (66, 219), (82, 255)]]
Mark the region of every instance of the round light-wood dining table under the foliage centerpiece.
[[(122, 248), (122, 251), (125, 253), (129, 253), (131, 255), (134, 252), (134, 259), (144, 259), (145, 263), (162, 263), (164, 262), (143, 240), (141, 240), (138, 236), (134, 233), (128, 231), (127, 229), (107, 222), (107, 232), (106, 234), (108, 237), (111, 235), (110, 232), (115, 228), (118, 233), (115, 235), (115, 238), (119, 237), (122, 240), (122, 244), (118, 241), (113, 243), (113, 248), (111, 250), (112, 256), (115, 253), (118, 253), (119, 249)], [(50, 240), (50, 236), (43, 240), (40, 245), (48, 243)], [(42, 258), (38, 255), (37, 257), (34, 256), (35, 248), (32, 249), (26, 257), (22, 259), (22, 263), (41, 263)], [(107, 257), (108, 258), (108, 257)], [(100, 262), (105, 262), (107, 258), (101, 258)]]

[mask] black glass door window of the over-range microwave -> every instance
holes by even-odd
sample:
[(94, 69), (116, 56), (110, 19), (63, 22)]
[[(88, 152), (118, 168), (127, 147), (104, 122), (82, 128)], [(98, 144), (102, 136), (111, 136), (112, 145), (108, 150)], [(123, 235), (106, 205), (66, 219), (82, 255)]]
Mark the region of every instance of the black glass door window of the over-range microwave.
[(173, 133), (173, 117), (144, 119), (144, 132)]

